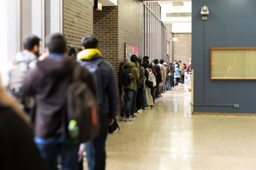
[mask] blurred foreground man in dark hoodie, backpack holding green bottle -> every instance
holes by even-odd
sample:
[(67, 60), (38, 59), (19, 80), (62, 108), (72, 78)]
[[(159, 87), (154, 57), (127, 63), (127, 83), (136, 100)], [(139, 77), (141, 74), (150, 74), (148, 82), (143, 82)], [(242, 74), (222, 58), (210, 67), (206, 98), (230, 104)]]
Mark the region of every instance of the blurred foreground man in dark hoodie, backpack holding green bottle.
[(28, 71), (22, 87), (25, 95), (35, 96), (36, 99), (34, 140), (50, 170), (57, 169), (58, 156), (62, 158), (62, 169), (77, 170), (79, 144), (73, 144), (66, 128), (63, 128), (63, 125), (68, 125), (64, 104), (67, 88), (75, 68), (83, 72), (78, 79), (87, 83), (93, 94), (95, 83), (87, 69), (66, 57), (68, 47), (64, 35), (48, 35), (46, 48), (49, 58), (38, 61), (36, 67)]

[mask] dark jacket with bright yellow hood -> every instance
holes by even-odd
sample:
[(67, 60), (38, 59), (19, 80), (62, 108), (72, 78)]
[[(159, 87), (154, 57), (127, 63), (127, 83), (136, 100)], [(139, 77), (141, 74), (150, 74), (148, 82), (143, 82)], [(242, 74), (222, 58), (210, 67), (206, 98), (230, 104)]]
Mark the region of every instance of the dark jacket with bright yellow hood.
[[(77, 55), (81, 61), (97, 60), (102, 54), (96, 48), (85, 49)], [(100, 105), (101, 114), (108, 114), (109, 119), (115, 119), (118, 112), (118, 85), (115, 77), (115, 71), (112, 65), (103, 60), (98, 64), (102, 81), (103, 103)], [(107, 120), (108, 121), (108, 120)]]

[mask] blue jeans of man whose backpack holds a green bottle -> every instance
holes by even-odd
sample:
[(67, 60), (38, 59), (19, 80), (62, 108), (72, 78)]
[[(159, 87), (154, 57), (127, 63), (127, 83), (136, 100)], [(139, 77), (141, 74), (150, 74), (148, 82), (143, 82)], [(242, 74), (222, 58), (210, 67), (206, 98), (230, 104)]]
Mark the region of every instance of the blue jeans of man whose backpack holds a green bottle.
[(57, 170), (58, 156), (61, 156), (62, 170), (78, 170), (79, 144), (68, 142), (62, 144), (37, 144), (41, 157), (46, 161), (49, 170)]

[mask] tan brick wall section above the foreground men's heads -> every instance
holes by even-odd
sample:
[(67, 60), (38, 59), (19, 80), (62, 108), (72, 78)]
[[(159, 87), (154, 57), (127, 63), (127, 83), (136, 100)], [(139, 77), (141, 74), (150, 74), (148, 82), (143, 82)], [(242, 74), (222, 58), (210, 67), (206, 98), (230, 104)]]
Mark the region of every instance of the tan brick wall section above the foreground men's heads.
[(68, 45), (81, 48), (81, 39), (93, 34), (94, 0), (63, 0), (63, 34)]

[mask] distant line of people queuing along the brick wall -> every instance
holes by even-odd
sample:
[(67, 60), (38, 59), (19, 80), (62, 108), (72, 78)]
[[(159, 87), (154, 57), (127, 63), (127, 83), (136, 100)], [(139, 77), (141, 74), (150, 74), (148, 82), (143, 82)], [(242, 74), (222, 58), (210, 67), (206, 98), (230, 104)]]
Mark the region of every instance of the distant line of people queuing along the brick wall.
[[(119, 93), (122, 99), (119, 121), (132, 122), (142, 109), (154, 108), (155, 100), (161, 98), (161, 93), (171, 90), (183, 82), (186, 64), (180, 68), (181, 61), (174, 61), (174, 64), (167, 63), (163, 59), (153, 59), (151, 62), (148, 56), (138, 58), (131, 55), (126, 62), (121, 62), (119, 69), (129, 67), (132, 80), (128, 86), (119, 84)], [(191, 64), (189, 65), (191, 67)], [(188, 72), (189, 70), (187, 70)], [(150, 74), (155, 77), (156, 85), (150, 87), (145, 82), (150, 79)], [(182, 78), (182, 79), (181, 79)]]

